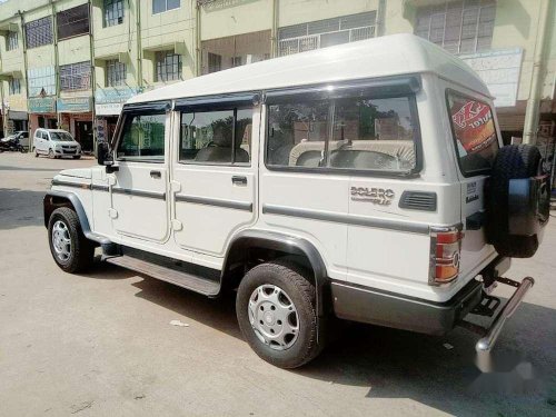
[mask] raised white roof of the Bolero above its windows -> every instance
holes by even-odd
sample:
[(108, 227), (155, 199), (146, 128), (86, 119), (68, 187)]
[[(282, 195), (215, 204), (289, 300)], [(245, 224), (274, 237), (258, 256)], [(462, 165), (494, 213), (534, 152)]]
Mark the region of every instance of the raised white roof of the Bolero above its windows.
[(403, 33), (196, 77), (135, 96), (128, 103), (425, 72), (436, 73), (490, 97), (486, 85), (463, 60), (423, 38)]

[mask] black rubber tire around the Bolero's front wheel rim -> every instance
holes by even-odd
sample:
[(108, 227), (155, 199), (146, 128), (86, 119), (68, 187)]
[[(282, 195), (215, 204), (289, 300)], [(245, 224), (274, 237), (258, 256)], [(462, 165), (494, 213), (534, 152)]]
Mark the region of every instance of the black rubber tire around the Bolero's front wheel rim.
[[(52, 229), (58, 221), (66, 225), (71, 241), (70, 255), (67, 259), (61, 259), (58, 256), (52, 240)], [(48, 221), (48, 241), (52, 258), (54, 258), (56, 264), (66, 272), (82, 272), (92, 266), (95, 260), (95, 244), (85, 237), (79, 217), (72, 209), (60, 207), (52, 212)]]

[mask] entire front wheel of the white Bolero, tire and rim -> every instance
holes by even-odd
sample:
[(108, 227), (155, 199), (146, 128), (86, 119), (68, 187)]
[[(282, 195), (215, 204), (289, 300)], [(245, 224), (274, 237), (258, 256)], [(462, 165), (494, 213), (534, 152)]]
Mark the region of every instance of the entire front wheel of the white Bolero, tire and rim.
[(95, 245), (85, 237), (79, 217), (72, 209), (61, 207), (52, 212), (48, 239), (56, 264), (66, 272), (80, 272), (92, 265)]

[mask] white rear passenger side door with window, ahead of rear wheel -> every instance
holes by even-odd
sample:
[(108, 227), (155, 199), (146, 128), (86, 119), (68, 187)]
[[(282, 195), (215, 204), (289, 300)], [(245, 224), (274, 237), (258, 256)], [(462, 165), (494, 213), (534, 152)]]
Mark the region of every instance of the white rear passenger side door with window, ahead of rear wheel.
[(224, 257), (257, 208), (260, 105), (254, 95), (177, 101), (172, 227), (186, 250)]

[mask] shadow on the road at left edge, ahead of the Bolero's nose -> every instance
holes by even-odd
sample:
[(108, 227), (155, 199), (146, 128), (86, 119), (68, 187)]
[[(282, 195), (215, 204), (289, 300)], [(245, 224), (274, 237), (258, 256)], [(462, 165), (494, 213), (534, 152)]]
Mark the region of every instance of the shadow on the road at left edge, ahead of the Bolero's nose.
[(43, 226), (43, 197), (44, 191), (0, 188), (0, 230)]

